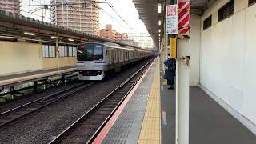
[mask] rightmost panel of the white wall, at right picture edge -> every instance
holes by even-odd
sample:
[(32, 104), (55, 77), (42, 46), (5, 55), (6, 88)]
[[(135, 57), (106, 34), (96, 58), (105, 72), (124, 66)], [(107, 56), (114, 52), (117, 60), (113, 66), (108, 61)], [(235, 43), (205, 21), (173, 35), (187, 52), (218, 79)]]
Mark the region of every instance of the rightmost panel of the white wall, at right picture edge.
[(246, 49), (242, 112), (256, 124), (256, 5), (246, 10)]

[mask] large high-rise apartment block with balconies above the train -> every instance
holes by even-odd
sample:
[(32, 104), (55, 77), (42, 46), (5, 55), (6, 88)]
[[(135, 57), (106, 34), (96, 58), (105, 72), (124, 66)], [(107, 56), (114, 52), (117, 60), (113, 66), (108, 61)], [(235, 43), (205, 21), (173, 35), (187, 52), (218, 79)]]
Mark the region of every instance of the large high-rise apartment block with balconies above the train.
[(99, 35), (99, 0), (51, 0), (52, 22), (89, 34)]

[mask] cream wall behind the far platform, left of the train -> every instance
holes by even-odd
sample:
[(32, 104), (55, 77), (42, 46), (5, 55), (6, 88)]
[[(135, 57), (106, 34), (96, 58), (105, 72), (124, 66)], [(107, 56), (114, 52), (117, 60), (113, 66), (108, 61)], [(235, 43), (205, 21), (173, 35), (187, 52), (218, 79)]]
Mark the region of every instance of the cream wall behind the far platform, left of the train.
[[(62, 57), (59, 67), (76, 62), (76, 57)], [(0, 76), (55, 68), (58, 58), (42, 58), (42, 43), (0, 41)]]

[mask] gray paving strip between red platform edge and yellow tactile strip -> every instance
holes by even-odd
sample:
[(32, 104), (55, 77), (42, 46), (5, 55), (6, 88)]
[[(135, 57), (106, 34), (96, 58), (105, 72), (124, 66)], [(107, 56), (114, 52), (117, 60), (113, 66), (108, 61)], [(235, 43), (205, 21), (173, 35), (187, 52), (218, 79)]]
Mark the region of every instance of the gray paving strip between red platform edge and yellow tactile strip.
[(142, 83), (138, 86), (138, 89), (134, 92), (116, 122), (114, 122), (114, 126), (111, 127), (102, 143), (133, 144), (138, 142), (147, 99), (154, 78), (155, 66), (156, 63), (154, 62), (149, 73), (146, 74), (146, 77), (142, 80)]

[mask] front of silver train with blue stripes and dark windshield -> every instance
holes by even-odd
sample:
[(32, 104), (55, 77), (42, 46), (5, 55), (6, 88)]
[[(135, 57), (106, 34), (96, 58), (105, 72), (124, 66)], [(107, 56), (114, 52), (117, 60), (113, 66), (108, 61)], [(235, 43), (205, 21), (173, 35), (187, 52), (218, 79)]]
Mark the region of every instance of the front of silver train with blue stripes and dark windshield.
[(78, 79), (102, 80), (108, 62), (104, 57), (105, 46), (101, 43), (83, 43), (78, 45)]

